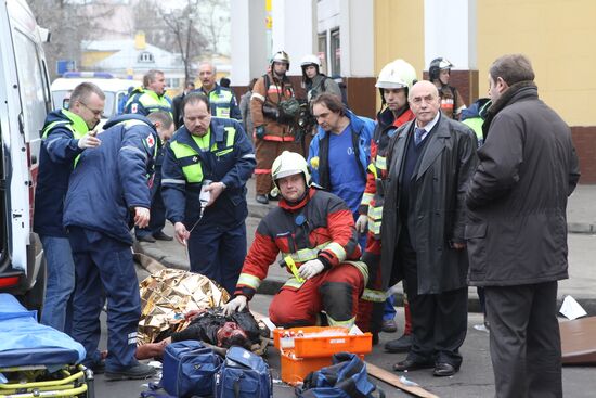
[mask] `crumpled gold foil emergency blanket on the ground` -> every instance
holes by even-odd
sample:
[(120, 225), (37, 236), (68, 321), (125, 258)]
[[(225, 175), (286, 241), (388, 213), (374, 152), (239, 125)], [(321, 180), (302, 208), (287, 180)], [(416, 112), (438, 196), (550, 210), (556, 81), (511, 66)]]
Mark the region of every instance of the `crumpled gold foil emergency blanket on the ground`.
[(140, 284), (141, 320), (137, 344), (153, 343), (159, 333), (179, 332), (189, 325), (184, 313), (219, 307), (230, 295), (223, 287), (199, 273), (166, 268)]

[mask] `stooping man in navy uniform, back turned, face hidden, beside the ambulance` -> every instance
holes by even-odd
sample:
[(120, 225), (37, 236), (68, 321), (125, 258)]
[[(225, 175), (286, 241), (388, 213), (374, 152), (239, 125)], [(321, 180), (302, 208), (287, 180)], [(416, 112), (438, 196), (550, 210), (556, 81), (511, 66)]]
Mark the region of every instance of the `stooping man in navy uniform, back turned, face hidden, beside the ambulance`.
[(109, 120), (98, 136), (101, 145), (86, 151), (77, 163), (64, 204), (77, 275), (72, 336), (87, 350), (83, 364), (101, 370), (98, 344), (105, 295), (105, 373), (109, 380), (144, 378), (154, 373), (152, 367), (134, 359), (141, 300), (130, 228), (150, 221), (148, 181), (158, 140), (154, 125), (160, 121), (160, 128), (166, 128), (164, 120), (171, 124), (164, 112)]

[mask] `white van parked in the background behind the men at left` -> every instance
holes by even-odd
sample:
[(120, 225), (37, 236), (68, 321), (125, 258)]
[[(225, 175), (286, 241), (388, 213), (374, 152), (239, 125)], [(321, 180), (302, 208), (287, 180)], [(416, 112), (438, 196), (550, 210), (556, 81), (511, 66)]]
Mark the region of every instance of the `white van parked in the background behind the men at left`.
[(68, 107), (70, 92), (83, 81), (96, 85), (105, 93), (105, 106), (102, 119), (118, 115), (118, 104), (128, 94), (130, 88), (141, 86), (141, 81), (118, 79), (103, 72), (67, 72), (52, 82), (50, 90), (54, 102), (54, 110)]

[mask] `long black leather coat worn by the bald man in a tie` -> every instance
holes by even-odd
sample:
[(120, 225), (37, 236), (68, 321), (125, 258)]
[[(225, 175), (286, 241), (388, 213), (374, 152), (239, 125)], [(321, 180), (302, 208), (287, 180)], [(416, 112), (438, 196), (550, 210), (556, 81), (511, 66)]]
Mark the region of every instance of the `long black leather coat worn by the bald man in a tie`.
[[(401, 126), (388, 149), (381, 272), (383, 280), (391, 284), (403, 279), (399, 253), (396, 253), (404, 227), (401, 224), (399, 181), (414, 127), (415, 120)], [(427, 140), (410, 185), (406, 219), (418, 271), (418, 286), (410, 288), (417, 288), (418, 294), (438, 294), (466, 285), (467, 253), (452, 248), (452, 244), (464, 242), (464, 196), (477, 165), (477, 140), (469, 127), (444, 115), (440, 116)]]

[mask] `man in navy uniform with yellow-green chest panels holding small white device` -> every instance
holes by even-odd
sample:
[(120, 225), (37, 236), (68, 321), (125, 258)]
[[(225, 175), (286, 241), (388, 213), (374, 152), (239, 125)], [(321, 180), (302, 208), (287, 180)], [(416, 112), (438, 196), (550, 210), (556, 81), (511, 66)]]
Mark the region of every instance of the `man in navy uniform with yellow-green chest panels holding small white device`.
[(186, 95), (183, 110), (184, 126), (166, 146), (161, 168), (166, 216), (178, 242), (189, 247), (191, 271), (233, 293), (246, 256), (252, 145), (238, 121), (211, 117), (204, 94)]

